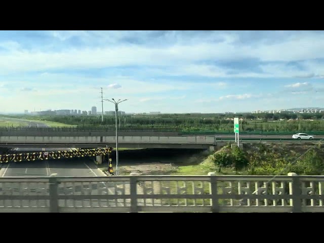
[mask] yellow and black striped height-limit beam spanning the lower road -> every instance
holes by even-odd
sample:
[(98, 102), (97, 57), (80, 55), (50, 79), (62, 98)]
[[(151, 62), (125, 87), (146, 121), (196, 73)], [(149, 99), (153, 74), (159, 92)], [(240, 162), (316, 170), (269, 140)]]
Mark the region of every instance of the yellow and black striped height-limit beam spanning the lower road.
[[(85, 156), (98, 156), (106, 155), (109, 148), (91, 148), (91, 149), (77, 149), (71, 151), (41, 151), (32, 153), (14, 153), (14, 154), (0, 154), (0, 163), (20, 162), (20, 161), (34, 161), (45, 159), (60, 159), (60, 158), (73, 158)], [(110, 152), (111, 153), (111, 152)], [(108, 152), (108, 158), (109, 156)], [(111, 160), (109, 160), (109, 165)]]

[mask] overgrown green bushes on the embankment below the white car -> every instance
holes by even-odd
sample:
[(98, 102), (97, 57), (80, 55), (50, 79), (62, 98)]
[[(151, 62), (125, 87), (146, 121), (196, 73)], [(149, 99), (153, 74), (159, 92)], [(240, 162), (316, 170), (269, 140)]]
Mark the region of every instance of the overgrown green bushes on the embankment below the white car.
[(243, 150), (227, 145), (210, 155), (203, 163), (221, 172), (232, 169), (247, 175), (322, 175), (324, 146), (318, 144), (244, 144)]

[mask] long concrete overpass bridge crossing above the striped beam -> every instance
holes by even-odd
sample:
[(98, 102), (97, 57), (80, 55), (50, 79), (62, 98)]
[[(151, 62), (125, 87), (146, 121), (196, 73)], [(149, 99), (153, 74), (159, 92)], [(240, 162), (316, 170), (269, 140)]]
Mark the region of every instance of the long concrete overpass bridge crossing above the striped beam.
[[(101, 147), (116, 144), (115, 136), (0, 136), (0, 147)], [(118, 136), (119, 147), (209, 149), (217, 145), (208, 136)]]

